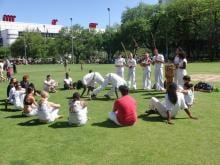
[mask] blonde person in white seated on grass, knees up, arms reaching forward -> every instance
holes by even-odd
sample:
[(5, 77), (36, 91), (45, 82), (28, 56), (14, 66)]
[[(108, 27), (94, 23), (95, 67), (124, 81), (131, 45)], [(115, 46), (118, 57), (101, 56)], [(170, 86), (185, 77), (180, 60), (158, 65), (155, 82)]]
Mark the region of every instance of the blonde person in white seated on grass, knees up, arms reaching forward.
[(38, 103), (38, 118), (40, 122), (48, 123), (62, 118), (58, 115), (60, 104), (48, 101), (49, 94), (46, 91), (41, 92), (41, 99)]

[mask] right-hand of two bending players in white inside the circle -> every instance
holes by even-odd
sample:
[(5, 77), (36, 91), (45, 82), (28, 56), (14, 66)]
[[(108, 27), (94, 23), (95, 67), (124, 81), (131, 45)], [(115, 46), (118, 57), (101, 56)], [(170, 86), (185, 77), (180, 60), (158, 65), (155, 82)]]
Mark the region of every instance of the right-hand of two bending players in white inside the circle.
[(115, 73), (108, 73), (108, 74), (106, 74), (104, 82), (102, 83), (102, 85), (100, 85), (98, 88), (96, 88), (92, 92), (91, 97), (95, 98), (96, 95), (99, 92), (101, 92), (109, 83), (112, 85), (111, 90), (107, 94), (105, 94), (104, 96), (106, 98), (111, 98), (110, 96), (112, 95), (112, 93), (115, 92), (116, 97), (118, 98), (117, 89), (121, 85), (126, 85), (126, 81), (123, 78), (121, 78), (120, 76), (118, 76), (117, 74), (115, 74)]

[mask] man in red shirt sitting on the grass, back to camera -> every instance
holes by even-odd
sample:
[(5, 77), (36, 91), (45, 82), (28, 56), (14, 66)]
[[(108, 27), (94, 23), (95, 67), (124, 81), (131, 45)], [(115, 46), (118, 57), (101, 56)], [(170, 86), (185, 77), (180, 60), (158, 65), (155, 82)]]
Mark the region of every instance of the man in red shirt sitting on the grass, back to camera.
[(119, 126), (131, 126), (137, 121), (136, 101), (128, 94), (128, 87), (119, 87), (122, 97), (114, 103), (113, 111), (109, 112), (109, 119)]

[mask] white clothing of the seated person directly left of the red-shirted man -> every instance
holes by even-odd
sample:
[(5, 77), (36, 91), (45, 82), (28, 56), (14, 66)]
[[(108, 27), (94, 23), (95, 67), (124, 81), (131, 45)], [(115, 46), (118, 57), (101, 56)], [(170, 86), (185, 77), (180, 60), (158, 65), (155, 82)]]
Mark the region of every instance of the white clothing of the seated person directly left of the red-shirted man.
[(86, 124), (87, 118), (87, 107), (82, 106), (81, 101), (73, 101), (69, 102), (69, 124), (83, 125)]

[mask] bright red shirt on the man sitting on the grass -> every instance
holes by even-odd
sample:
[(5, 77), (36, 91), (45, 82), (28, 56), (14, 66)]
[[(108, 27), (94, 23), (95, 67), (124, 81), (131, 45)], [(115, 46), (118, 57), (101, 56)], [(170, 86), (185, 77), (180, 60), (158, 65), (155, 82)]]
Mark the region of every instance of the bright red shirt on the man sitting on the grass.
[(131, 96), (126, 95), (116, 100), (113, 109), (121, 125), (133, 125), (137, 121), (136, 101)]

